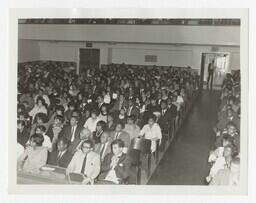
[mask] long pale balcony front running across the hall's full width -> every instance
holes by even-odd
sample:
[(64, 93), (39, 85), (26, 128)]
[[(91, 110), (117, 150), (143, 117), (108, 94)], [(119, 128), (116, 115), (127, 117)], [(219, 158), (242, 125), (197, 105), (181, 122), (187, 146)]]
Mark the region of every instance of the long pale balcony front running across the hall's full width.
[(20, 24), (19, 39), (240, 45), (240, 26)]

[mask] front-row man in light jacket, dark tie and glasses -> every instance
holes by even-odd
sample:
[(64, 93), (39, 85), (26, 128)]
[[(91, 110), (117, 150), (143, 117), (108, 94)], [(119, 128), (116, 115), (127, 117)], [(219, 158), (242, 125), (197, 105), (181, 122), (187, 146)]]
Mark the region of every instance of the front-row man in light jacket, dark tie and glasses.
[(100, 156), (93, 151), (93, 141), (85, 140), (67, 167), (67, 175), (72, 178), (72, 174), (82, 176), (83, 184), (93, 184), (94, 179), (100, 173)]

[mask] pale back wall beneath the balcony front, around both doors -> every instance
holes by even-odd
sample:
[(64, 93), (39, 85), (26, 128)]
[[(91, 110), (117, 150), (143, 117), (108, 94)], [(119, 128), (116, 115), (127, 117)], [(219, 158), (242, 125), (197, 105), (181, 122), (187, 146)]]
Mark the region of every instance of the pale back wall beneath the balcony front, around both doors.
[[(26, 40), (26, 43), (21, 43), (19, 48), (23, 49), (23, 46), (26, 50), (31, 48), (30, 51), (26, 52), (31, 53), (31, 60), (35, 59), (35, 47), (39, 47), (40, 51), (38, 53), (40, 54), (37, 60), (78, 62), (79, 48), (86, 48), (84, 42), (30, 41)], [(35, 44), (37, 46), (34, 46)], [(191, 66), (193, 69), (200, 70), (201, 54), (211, 52), (212, 46), (93, 43), (93, 48), (100, 49), (100, 64), (127, 63), (136, 65)], [(218, 46), (218, 51), (230, 54), (230, 69), (240, 68), (239, 47)], [(157, 55), (157, 63), (145, 62), (145, 55)]]

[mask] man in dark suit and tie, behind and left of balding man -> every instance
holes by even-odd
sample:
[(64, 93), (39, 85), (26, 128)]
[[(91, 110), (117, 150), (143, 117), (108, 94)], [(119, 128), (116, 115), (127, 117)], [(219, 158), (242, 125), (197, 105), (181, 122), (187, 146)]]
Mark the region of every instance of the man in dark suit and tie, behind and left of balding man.
[(75, 140), (79, 139), (80, 132), (83, 128), (83, 126), (79, 126), (77, 123), (78, 117), (72, 116), (69, 124), (67, 124), (60, 132), (59, 137), (65, 137), (72, 145)]

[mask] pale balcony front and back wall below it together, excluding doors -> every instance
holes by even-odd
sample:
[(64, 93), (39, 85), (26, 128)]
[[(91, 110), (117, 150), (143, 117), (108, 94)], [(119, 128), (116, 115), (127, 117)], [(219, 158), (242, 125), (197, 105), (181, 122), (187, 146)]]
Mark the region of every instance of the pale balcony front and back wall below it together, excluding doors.
[[(79, 61), (79, 48), (100, 49), (100, 64), (191, 66), (200, 70), (206, 52), (230, 54), (240, 68), (239, 26), (19, 25), (19, 62)], [(29, 40), (30, 39), (30, 40)], [(35, 41), (36, 40), (36, 41)], [(27, 50), (27, 51), (25, 51)], [(145, 62), (145, 55), (156, 62)]]

